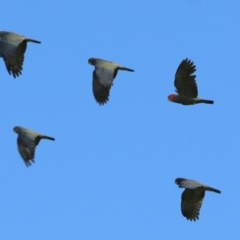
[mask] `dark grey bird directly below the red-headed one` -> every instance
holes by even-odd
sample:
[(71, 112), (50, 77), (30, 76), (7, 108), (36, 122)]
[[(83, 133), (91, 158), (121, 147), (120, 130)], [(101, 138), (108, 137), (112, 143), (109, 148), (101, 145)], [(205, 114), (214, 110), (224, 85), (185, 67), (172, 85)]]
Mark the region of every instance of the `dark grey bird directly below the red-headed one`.
[(182, 193), (181, 210), (182, 215), (186, 217), (187, 220), (191, 221), (199, 219), (199, 212), (205, 196), (205, 191), (221, 193), (218, 189), (189, 179), (177, 178), (175, 183), (180, 188), (185, 188)]

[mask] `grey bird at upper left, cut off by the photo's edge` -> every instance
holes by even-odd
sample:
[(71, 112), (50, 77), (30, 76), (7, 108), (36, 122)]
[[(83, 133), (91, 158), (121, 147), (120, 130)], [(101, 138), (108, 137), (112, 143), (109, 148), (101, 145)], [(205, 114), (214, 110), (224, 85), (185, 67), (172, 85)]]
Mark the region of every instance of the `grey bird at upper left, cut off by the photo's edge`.
[(22, 74), (27, 42), (41, 43), (16, 33), (0, 32), (0, 57), (3, 58), (8, 73), (14, 78)]

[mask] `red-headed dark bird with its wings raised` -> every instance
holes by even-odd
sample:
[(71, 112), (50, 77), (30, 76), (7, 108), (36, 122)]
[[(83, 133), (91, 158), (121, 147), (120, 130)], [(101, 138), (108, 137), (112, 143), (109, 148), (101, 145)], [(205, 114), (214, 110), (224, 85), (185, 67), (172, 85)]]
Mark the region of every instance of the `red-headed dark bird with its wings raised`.
[(198, 98), (198, 88), (196, 75), (196, 66), (189, 59), (184, 59), (175, 73), (174, 86), (178, 94), (170, 94), (168, 100), (183, 105), (193, 105), (197, 103), (213, 104), (214, 101)]

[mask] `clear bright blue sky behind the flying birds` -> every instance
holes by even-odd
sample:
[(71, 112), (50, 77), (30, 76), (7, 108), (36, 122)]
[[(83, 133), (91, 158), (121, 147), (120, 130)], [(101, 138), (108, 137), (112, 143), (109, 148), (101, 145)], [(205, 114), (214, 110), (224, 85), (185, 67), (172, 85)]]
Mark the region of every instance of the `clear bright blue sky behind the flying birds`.
[[(1, 3), (1, 30), (29, 43), (14, 79), (0, 59), (0, 239), (238, 239), (240, 1), (18, 1)], [(110, 101), (92, 94), (88, 58), (120, 71)], [(167, 100), (190, 58), (199, 96)], [(42, 140), (26, 167), (19, 125)], [(200, 220), (181, 214), (177, 177), (207, 192)]]

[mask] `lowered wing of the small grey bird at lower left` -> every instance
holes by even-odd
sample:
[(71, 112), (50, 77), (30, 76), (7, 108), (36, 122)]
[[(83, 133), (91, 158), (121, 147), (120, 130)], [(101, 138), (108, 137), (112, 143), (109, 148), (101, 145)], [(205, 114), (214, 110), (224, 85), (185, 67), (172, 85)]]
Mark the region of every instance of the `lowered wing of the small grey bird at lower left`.
[(22, 156), (27, 166), (31, 166), (31, 160), (34, 162), (36, 145), (27, 136), (18, 136), (17, 138), (18, 151)]

